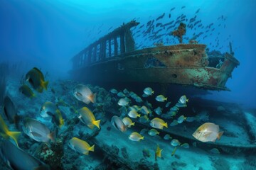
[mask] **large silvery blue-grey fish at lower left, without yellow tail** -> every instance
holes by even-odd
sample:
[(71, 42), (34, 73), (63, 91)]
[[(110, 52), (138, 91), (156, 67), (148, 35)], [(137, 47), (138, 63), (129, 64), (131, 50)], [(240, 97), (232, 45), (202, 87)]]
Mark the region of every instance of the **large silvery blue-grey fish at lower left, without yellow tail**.
[(36, 119), (26, 118), (23, 120), (23, 132), (37, 142), (55, 142), (55, 131), (50, 132), (49, 128)]

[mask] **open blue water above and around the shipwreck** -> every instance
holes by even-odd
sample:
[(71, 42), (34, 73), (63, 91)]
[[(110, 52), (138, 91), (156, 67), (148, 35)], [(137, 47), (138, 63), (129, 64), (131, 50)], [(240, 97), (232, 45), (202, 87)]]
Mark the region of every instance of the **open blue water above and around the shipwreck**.
[[(199, 8), (200, 11), (196, 13)], [(256, 108), (255, 8), (255, 0), (1, 0), (0, 62), (23, 63), (23, 72), (19, 72), (18, 81), (22, 74), (26, 74), (33, 67), (43, 69), (44, 73), (48, 72), (52, 82), (58, 79), (72, 80), (68, 74), (72, 69), (70, 59), (122, 23), (135, 18), (141, 26), (162, 13), (165, 13), (164, 19), (159, 21), (163, 23), (169, 21), (169, 13), (174, 21), (181, 14), (186, 15), (188, 20), (196, 15), (196, 20), (201, 20), (203, 26), (213, 23), (211, 29), (215, 28), (201, 35), (198, 42), (208, 45), (210, 50), (220, 52), (230, 52), (228, 43), (232, 42), (235, 57), (240, 62), (232, 73), (232, 79), (228, 79), (226, 84), (231, 91), (211, 91), (212, 94), (203, 98), (238, 103), (242, 108), (253, 109)], [(138, 30), (135, 28), (134, 32), (136, 29)], [(206, 28), (187, 30), (186, 36), (191, 37), (193, 33), (201, 31), (206, 31)], [(204, 35), (208, 36), (203, 39)], [(219, 45), (213, 47), (216, 38)], [(171, 35), (169, 39), (174, 41), (166, 45), (178, 43)], [(154, 43), (144, 41), (143, 38), (134, 40), (137, 45), (143, 43), (145, 47)], [(163, 40), (165, 43), (166, 39)], [(41, 105), (44, 101), (38, 102)]]

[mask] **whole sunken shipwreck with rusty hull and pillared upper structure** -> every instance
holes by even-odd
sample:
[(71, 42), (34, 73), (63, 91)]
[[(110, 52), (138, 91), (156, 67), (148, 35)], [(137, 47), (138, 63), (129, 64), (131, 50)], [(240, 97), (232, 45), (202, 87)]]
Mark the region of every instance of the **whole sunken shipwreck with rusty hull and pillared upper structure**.
[(136, 21), (123, 24), (75, 55), (70, 71), (73, 79), (88, 83), (181, 84), (229, 90), (225, 84), (239, 65), (231, 47), (230, 53), (211, 57), (206, 53), (206, 45), (194, 42), (136, 50), (131, 28), (138, 24)]

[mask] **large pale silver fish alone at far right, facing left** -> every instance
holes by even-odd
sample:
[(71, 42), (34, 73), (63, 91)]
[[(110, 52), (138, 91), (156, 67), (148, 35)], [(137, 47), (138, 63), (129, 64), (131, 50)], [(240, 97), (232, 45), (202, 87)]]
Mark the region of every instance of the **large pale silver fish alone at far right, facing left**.
[(214, 123), (204, 123), (193, 133), (193, 137), (201, 142), (215, 142), (216, 139), (220, 140), (222, 135), (219, 125)]

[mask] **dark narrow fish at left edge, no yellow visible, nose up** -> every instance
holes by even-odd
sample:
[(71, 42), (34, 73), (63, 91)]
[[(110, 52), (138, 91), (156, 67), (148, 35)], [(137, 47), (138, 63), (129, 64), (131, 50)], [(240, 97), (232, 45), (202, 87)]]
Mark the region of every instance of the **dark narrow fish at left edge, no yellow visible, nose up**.
[(5, 96), (4, 98), (4, 115), (9, 120), (9, 123), (17, 123), (18, 122), (18, 115), (14, 103), (11, 101), (9, 96)]

